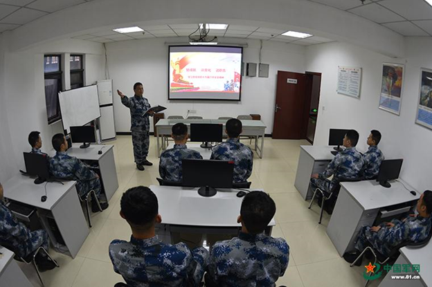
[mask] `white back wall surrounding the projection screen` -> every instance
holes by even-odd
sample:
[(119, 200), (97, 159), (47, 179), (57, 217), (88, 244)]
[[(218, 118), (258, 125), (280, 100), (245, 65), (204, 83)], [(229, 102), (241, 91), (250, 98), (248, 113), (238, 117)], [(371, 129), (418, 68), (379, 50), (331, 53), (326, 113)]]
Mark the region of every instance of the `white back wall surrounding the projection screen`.
[[(194, 115), (201, 115), (204, 118), (259, 113), (262, 121), (267, 124), (266, 133), (271, 133), (278, 70), (305, 72), (303, 46), (264, 41), (262, 63), (270, 64), (269, 77), (242, 77), (241, 102), (168, 101), (168, 46), (164, 44), (165, 41), (172, 42), (173, 38), (107, 44), (109, 76), (113, 79), (114, 91), (120, 89), (125, 95), (133, 96), (134, 83), (142, 82), (144, 96), (150, 104), (167, 107), (164, 111), (165, 118), (168, 115), (186, 117), (188, 109), (196, 110), (197, 113)], [(259, 40), (220, 38), (219, 41), (248, 43), (249, 46), (244, 48), (244, 62), (259, 62)], [(129, 109), (121, 104), (116, 93), (114, 96), (116, 131), (129, 131)]]

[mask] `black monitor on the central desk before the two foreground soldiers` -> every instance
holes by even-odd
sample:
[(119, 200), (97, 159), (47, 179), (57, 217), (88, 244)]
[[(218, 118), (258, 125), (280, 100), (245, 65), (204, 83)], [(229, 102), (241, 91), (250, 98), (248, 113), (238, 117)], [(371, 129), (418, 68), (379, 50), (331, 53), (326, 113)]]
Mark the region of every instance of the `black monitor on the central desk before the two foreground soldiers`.
[(183, 159), (183, 186), (200, 187), (201, 196), (214, 196), (215, 187), (233, 187), (234, 162)]

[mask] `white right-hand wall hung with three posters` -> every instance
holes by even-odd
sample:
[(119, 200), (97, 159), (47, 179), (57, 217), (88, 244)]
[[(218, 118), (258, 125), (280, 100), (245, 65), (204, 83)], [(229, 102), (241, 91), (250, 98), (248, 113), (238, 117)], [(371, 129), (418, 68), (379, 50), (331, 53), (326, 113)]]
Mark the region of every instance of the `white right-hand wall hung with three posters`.
[[(379, 147), (386, 158), (404, 158), (401, 177), (415, 189), (432, 189), (430, 163), (432, 131), (415, 124), (420, 67), (432, 68), (432, 40), (408, 38), (407, 58), (394, 59), (350, 44), (330, 43), (307, 47), (306, 68), (323, 73), (314, 145), (327, 145), (330, 128), (356, 129), (359, 149), (366, 150), (371, 129), (381, 131)], [(400, 115), (378, 109), (382, 63), (405, 64)], [(337, 66), (362, 70), (359, 99), (336, 93)]]

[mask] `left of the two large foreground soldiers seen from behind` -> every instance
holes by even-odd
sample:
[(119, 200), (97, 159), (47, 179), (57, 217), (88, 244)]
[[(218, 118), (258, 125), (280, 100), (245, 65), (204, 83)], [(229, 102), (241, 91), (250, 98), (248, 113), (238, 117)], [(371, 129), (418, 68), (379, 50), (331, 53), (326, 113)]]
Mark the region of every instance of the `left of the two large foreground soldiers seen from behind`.
[(132, 228), (130, 241), (114, 240), (109, 257), (114, 271), (128, 286), (199, 286), (207, 267), (208, 251), (186, 244), (165, 244), (155, 235), (161, 223), (156, 195), (143, 186), (128, 189), (120, 200), (120, 216)]

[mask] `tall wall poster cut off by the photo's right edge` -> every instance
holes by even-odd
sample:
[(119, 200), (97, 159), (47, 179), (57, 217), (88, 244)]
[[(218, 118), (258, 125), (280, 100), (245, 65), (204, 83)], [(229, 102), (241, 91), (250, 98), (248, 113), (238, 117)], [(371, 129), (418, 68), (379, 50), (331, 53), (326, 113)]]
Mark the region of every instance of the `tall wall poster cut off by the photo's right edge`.
[(427, 68), (421, 69), (420, 95), (415, 122), (432, 129), (432, 70)]

